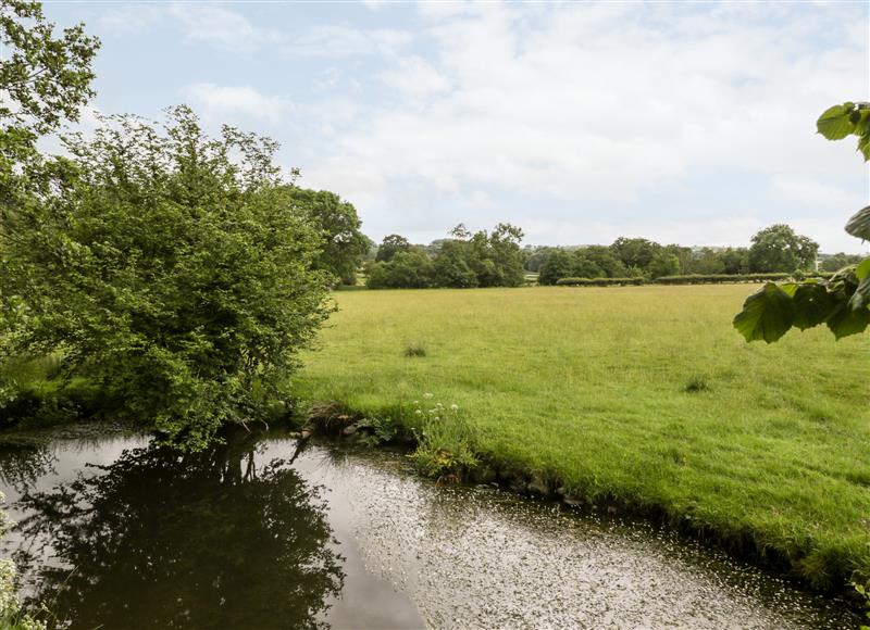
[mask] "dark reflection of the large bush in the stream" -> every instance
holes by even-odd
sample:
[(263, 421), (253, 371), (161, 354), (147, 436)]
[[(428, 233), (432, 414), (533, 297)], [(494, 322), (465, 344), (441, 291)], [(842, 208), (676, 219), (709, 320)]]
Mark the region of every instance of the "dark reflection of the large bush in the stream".
[(101, 475), (26, 494), (23, 549), (66, 565), (37, 569), (36, 598), (70, 627), (319, 626), (344, 581), (325, 502), (286, 461), (258, 469), (257, 442), (125, 451)]

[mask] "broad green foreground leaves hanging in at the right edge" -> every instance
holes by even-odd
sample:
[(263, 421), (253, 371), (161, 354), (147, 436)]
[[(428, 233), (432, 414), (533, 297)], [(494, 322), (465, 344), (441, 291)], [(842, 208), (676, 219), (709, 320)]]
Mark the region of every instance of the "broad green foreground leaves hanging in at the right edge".
[[(829, 140), (858, 138), (858, 151), (870, 161), (870, 103), (847, 102), (825, 110), (816, 123)], [(846, 223), (846, 231), (870, 240), (870, 206)], [(779, 340), (792, 327), (825, 325), (840, 339), (870, 325), (870, 257), (846, 266), (830, 280), (765, 285), (746, 299), (734, 327), (748, 341)]]

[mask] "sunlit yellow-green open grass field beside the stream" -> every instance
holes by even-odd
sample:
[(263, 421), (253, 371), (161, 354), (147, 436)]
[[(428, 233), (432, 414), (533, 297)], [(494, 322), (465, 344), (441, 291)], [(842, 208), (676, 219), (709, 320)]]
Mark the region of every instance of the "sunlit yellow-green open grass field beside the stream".
[(399, 420), (431, 392), (497, 464), (775, 551), (819, 587), (870, 577), (870, 335), (747, 344), (731, 318), (753, 290), (338, 293), (295, 387)]

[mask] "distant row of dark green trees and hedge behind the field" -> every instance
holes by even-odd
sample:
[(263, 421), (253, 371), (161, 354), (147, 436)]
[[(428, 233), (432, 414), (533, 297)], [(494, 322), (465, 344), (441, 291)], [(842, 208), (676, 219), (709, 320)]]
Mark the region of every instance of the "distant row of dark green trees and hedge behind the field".
[(370, 253), (372, 289), (515, 287), (524, 274), (540, 285), (608, 286), (716, 284), (779, 280), (832, 273), (860, 255), (819, 254), (819, 245), (787, 225), (756, 234), (746, 248), (662, 245), (645, 238), (618, 238), (609, 245), (520, 248), (522, 230), (499, 224), (492, 232), (460, 225), (451, 238), (428, 245), (390, 235)]

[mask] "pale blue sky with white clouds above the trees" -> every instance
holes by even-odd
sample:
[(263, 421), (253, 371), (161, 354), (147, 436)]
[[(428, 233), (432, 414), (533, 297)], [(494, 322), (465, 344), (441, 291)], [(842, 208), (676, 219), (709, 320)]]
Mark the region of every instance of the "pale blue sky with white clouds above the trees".
[(534, 244), (746, 245), (787, 223), (823, 252), (868, 250), (843, 225), (870, 171), (815, 126), (870, 100), (866, 0), (45, 10), (102, 40), (94, 111), (187, 103), (211, 130), (275, 138), (376, 241), (509, 222)]

